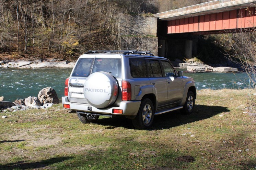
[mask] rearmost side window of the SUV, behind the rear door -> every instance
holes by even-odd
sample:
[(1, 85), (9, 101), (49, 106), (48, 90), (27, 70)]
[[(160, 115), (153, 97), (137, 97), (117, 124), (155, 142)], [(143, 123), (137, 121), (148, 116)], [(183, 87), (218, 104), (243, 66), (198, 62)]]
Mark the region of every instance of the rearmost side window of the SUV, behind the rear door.
[(130, 58), (131, 76), (133, 78), (147, 77), (146, 62), (143, 58)]

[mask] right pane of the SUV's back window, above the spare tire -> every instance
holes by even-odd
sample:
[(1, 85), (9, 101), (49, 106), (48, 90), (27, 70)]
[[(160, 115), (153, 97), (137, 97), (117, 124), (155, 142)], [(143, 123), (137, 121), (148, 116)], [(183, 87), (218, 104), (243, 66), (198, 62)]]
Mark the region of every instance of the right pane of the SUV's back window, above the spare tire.
[(112, 76), (120, 78), (121, 75), (121, 59), (120, 58), (95, 58), (92, 73), (104, 71)]

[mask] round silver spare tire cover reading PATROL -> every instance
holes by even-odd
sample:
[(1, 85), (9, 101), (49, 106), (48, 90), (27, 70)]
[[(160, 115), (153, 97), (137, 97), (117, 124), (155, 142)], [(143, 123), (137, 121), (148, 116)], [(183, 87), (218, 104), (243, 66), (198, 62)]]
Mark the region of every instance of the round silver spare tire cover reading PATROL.
[(84, 83), (84, 97), (95, 108), (106, 108), (118, 97), (118, 84), (107, 72), (92, 73)]

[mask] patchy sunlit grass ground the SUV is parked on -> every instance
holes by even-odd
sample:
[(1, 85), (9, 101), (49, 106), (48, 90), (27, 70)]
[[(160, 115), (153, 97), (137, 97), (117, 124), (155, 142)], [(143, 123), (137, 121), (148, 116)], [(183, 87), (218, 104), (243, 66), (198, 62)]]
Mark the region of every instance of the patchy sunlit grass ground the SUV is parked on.
[(147, 130), (123, 117), (82, 124), (60, 104), (0, 113), (0, 169), (255, 169), (256, 122), (236, 109), (246, 94), (200, 90), (193, 114), (155, 116)]

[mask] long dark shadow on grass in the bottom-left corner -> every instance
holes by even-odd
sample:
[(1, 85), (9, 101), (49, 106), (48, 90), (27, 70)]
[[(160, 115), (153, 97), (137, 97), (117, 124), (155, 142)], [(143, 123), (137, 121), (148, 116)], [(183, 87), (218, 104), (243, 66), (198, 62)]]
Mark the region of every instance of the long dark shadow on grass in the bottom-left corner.
[(74, 157), (66, 156), (66, 157), (57, 157), (57, 158), (50, 158), (42, 161), (37, 162), (25, 162), (25, 161), (19, 161), (15, 163), (0, 165), (0, 169), (38, 169), (38, 168), (44, 168), (46, 166), (49, 166), (51, 164), (55, 164), (58, 162), (63, 162), (65, 160), (73, 159)]

